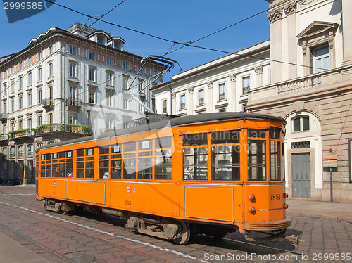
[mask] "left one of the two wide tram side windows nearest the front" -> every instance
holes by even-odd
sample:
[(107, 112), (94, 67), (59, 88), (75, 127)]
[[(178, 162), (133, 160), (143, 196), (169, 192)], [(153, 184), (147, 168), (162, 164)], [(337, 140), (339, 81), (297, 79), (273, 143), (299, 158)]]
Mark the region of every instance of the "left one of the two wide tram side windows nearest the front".
[(183, 179), (208, 180), (208, 147), (183, 149)]

